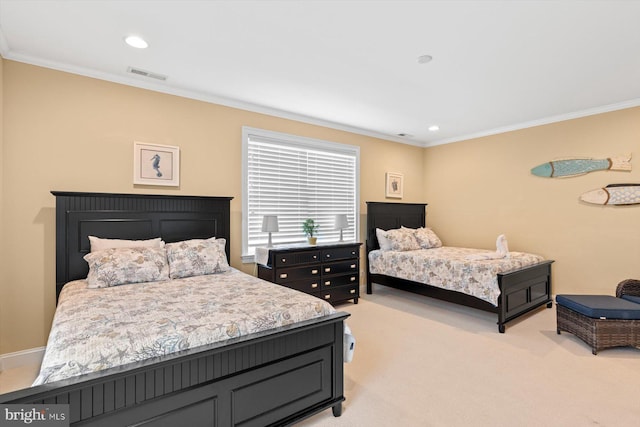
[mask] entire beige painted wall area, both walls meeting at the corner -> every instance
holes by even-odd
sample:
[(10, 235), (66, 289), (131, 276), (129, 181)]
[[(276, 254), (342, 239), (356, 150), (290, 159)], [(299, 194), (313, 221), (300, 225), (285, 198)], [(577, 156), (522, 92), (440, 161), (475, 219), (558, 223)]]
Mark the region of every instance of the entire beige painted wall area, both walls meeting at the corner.
[[(556, 260), (554, 293), (611, 294), (618, 280), (640, 277), (640, 207), (578, 201), (640, 182), (640, 166), (562, 180), (529, 172), (557, 157), (640, 157), (640, 108), (421, 149), (7, 60), (0, 101), (0, 354), (46, 342), (51, 190), (233, 196), (231, 264), (252, 272), (240, 263), (242, 126), (360, 146), (361, 230), (365, 201), (385, 200), (385, 172), (401, 172), (403, 201), (429, 203), (445, 244), (491, 248), (505, 233), (512, 250)], [(179, 188), (133, 186), (134, 140), (180, 146)]]

